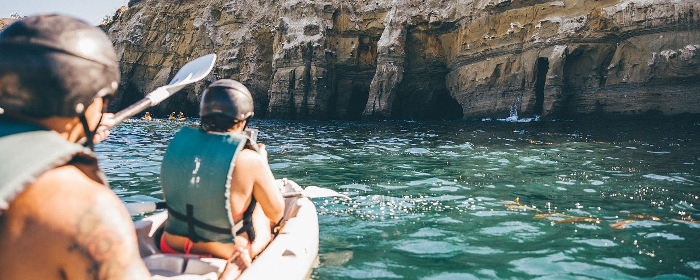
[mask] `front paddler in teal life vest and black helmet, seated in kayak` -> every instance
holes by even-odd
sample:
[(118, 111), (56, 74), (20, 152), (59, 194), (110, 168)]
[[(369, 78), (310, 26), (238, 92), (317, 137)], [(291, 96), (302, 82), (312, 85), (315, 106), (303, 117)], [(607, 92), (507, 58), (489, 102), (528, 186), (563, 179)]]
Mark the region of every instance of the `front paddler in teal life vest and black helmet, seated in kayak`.
[(267, 246), (284, 201), (265, 145), (243, 133), (252, 116), (253, 97), (241, 83), (217, 80), (204, 90), (201, 130), (184, 127), (163, 158), (161, 251), (230, 258), (244, 269)]

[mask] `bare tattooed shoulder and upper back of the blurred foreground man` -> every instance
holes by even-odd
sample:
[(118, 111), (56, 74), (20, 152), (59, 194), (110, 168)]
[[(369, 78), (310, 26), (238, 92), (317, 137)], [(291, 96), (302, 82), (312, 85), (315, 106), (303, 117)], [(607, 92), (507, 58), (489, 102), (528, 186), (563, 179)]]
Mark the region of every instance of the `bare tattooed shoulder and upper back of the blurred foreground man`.
[(0, 271), (12, 267), (15, 275), (0, 279), (150, 277), (119, 198), (76, 167), (43, 174), (2, 220)]

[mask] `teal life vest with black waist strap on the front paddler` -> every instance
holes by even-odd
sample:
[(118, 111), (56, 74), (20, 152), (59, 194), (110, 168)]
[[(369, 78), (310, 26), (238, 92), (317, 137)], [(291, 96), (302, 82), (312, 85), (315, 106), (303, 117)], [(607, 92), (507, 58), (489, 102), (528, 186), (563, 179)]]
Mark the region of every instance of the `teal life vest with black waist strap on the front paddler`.
[(160, 169), (168, 209), (166, 232), (195, 242), (235, 243), (236, 235), (243, 232), (251, 241), (255, 239), (255, 198), (239, 223), (234, 221), (229, 200), (237, 155), (248, 141), (241, 132), (204, 132), (190, 127), (175, 135)]

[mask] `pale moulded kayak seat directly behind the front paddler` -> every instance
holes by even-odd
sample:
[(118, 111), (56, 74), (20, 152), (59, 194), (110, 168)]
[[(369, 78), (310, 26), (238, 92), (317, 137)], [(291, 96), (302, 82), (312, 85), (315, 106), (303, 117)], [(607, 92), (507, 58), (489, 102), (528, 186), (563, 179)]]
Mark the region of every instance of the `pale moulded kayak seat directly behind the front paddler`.
[(197, 258), (185, 254), (157, 253), (144, 258), (154, 279), (218, 279), (226, 266), (220, 258)]

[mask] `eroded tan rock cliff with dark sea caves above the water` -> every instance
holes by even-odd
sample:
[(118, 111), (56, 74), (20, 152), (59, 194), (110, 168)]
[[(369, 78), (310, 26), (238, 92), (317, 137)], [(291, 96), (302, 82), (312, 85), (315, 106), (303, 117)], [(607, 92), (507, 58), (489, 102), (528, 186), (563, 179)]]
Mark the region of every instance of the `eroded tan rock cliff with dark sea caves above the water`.
[(218, 78), (247, 85), (267, 118), (700, 113), (696, 0), (130, 3), (109, 27), (115, 107), (214, 52), (215, 71), (158, 113), (195, 115)]

